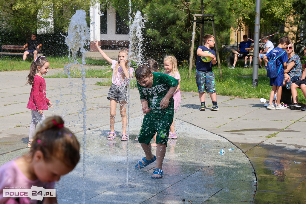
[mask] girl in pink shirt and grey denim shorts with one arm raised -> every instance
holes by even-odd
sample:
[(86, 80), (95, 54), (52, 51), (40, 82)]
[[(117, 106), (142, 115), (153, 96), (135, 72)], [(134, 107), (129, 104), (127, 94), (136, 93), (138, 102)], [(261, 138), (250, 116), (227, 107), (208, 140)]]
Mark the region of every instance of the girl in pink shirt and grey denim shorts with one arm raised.
[(120, 114), (122, 120), (122, 134), (121, 140), (127, 141), (128, 135), (126, 134), (126, 125), (127, 125), (127, 117), (126, 117), (126, 105), (128, 100), (128, 84), (129, 78), (133, 77), (134, 69), (129, 67), (129, 51), (127, 49), (119, 50), (118, 53), (118, 61), (112, 60), (108, 57), (103, 50), (99, 47), (98, 41), (95, 40), (95, 45), (98, 48), (102, 57), (111, 63), (111, 68), (113, 69), (113, 77), (112, 77), (112, 85), (110, 86), (110, 90), (108, 91), (107, 99), (110, 100), (110, 132), (107, 136), (108, 140), (114, 140), (116, 137), (116, 133), (114, 130), (115, 125), (115, 116), (116, 116), (116, 107), (117, 103), (120, 104)]

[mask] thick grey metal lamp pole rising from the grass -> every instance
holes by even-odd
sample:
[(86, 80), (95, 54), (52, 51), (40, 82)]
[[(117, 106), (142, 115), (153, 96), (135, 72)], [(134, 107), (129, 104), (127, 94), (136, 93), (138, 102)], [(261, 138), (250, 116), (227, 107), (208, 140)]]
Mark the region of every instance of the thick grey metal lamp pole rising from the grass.
[(258, 55), (259, 55), (259, 28), (260, 28), (260, 0), (256, 0), (254, 28), (254, 59), (253, 59), (253, 80), (252, 86), (258, 85)]

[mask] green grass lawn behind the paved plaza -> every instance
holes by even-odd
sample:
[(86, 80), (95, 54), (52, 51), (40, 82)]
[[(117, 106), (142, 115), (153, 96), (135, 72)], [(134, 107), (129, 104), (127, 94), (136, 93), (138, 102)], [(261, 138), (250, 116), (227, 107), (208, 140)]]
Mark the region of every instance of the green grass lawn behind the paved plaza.
[[(31, 57), (30, 57), (31, 58)], [(70, 60), (68, 57), (47, 57), (50, 61), (50, 68), (64, 68)], [(80, 59), (78, 59), (80, 62)], [(27, 59), (27, 61), (21, 61), (21, 57), (9, 57), (3, 56), (1, 58), (0, 71), (19, 71), (19, 70), (28, 70), (32, 59)], [(189, 66), (188, 62), (182, 62), (182, 65), (179, 66), (179, 72), (181, 75), (180, 90), (195, 92), (197, 95), (198, 88), (196, 86), (195, 73), (196, 70), (193, 68), (191, 77), (189, 76)], [(110, 67), (105, 60), (95, 60), (86, 58), (87, 65), (106, 65)], [(86, 77), (94, 78), (107, 78), (102, 82), (97, 82), (96, 85), (100, 86), (110, 86), (112, 72), (105, 73), (110, 70), (106, 69), (86, 69)], [(70, 77), (80, 78), (82, 73), (79, 69), (73, 68), (70, 70)], [(164, 72), (165, 69), (161, 67), (161, 72)], [(216, 91), (218, 95), (227, 95), (235, 96), (241, 98), (266, 98), (269, 99), (270, 92), (272, 87), (269, 86), (269, 78), (266, 76), (265, 69), (258, 70), (258, 86), (256, 88), (252, 87), (252, 68), (241, 68), (239, 65), (236, 66), (236, 69), (228, 69), (227, 66), (222, 65), (222, 77), (220, 79), (218, 66), (213, 67), (213, 72), (215, 73), (215, 82), (216, 82)], [(46, 78), (67, 78), (67, 74), (63, 71), (59, 71), (54, 75), (48, 75)], [(132, 79), (131, 88), (136, 88), (136, 80)], [(298, 101), (299, 103), (306, 104), (306, 99), (300, 89), (298, 91)]]

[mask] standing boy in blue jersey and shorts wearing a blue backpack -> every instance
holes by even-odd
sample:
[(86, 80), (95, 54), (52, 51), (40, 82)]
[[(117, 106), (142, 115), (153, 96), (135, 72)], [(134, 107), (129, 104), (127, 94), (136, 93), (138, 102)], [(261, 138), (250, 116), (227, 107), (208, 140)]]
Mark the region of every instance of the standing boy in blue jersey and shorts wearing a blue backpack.
[[(284, 49), (287, 48), (287, 46), (289, 45), (290, 40), (288, 38), (288, 36), (282, 37), (281, 39), (279, 39), (278, 42), (278, 46), (276, 48), (274, 48), (273, 50), (271, 50), (267, 55), (263, 56), (263, 61), (265, 61), (266, 63), (268, 63), (268, 61), (274, 57), (278, 57), (276, 59), (276, 69), (279, 69), (279, 67), (281, 65), (280, 71), (278, 72), (277, 77), (275, 78), (270, 78), (270, 86), (272, 86), (272, 91), (270, 93), (270, 100), (269, 100), (269, 104), (267, 106), (267, 109), (285, 109), (285, 106), (280, 105), (280, 101), (281, 101), (281, 96), (282, 96), (282, 86), (283, 86), (283, 81), (284, 81), (284, 71), (285, 69), (287, 69), (287, 61), (288, 61), (288, 56), (286, 53), (286, 51), (284, 51)], [(283, 54), (284, 53), (284, 54)], [(277, 91), (277, 95), (276, 95), (276, 107), (273, 106), (272, 101), (274, 98), (274, 94)]]

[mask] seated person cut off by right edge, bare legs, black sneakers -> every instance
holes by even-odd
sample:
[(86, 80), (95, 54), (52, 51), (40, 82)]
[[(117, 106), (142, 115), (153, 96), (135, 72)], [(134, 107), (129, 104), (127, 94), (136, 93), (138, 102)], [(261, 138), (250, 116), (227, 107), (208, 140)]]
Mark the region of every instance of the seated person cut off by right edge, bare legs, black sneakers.
[[(306, 46), (304, 47), (304, 55), (306, 56)], [(303, 65), (302, 65), (303, 66)], [(302, 67), (303, 68), (303, 67)], [(291, 104), (289, 107), (291, 110), (304, 110), (306, 111), (306, 106), (304, 108), (301, 108), (299, 104), (297, 104), (297, 88), (301, 88), (301, 91), (304, 94), (304, 97), (306, 98), (306, 64), (304, 65), (304, 71), (302, 73), (301, 80), (293, 82), (290, 85), (291, 89), (291, 95), (293, 99), (293, 104)]]

